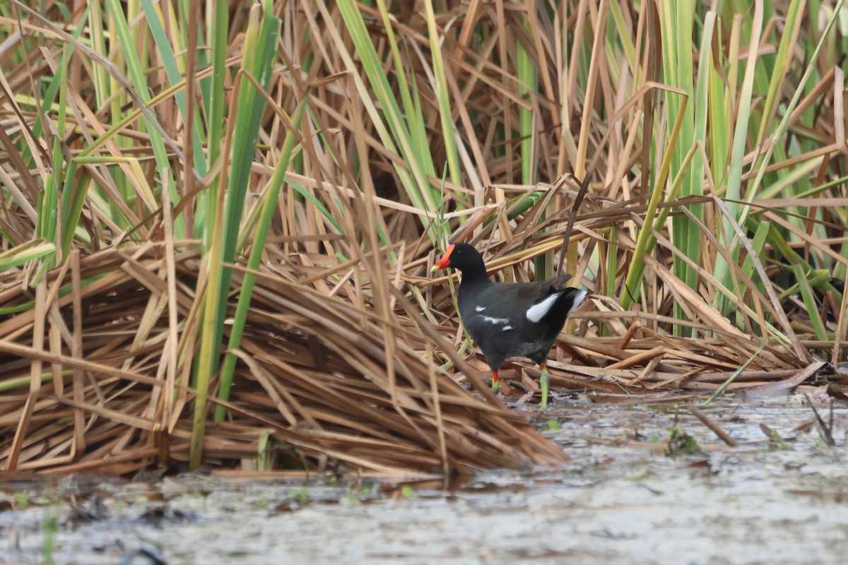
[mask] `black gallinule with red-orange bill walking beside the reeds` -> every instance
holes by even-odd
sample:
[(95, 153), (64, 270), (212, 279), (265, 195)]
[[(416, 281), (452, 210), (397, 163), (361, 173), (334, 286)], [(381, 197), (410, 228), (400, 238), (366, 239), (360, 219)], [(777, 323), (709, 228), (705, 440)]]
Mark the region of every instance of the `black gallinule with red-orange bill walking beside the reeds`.
[(548, 405), (548, 352), (566, 318), (586, 298), (586, 291), (566, 288), (570, 274), (529, 283), (495, 283), (483, 257), (467, 243), (449, 245), (432, 270), (460, 269), (462, 324), (483, 351), (492, 369), (492, 388), (500, 388), (498, 369), (510, 357), (527, 357), (542, 369), (542, 404)]

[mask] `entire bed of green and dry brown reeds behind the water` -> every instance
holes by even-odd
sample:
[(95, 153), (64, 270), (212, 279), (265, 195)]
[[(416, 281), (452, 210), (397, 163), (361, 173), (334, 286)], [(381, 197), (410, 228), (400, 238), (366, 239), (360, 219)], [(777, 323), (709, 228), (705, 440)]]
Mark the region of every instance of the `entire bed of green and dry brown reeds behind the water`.
[(0, 4), (0, 467), (560, 461), (427, 274), (449, 238), (591, 291), (555, 391), (843, 395), (817, 6)]

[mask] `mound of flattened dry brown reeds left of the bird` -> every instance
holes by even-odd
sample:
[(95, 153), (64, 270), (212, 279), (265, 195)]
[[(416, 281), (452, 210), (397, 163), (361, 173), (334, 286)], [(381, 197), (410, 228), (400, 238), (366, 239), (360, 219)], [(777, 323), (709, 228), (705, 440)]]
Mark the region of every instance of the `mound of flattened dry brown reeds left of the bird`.
[[(42, 279), (35, 308), (4, 317), (0, 436), (8, 468), (127, 473), (187, 459), (194, 395), (185, 364), (174, 372), (169, 360), (192, 347), (183, 340), (196, 320), (198, 258), (169, 256), (165, 245), (74, 255), (68, 269)], [(415, 307), (401, 294), (384, 318), (371, 303), (328, 296), (324, 277), (294, 261), (272, 261), (258, 277), (243, 363), (225, 404), (230, 418), (207, 426), (206, 461), (249, 462), (262, 455), (260, 445), (269, 460), (278, 451), (280, 466), (314, 468), (332, 457), (380, 474), (561, 458), (485, 386), (488, 403), (437, 375), (432, 346), (449, 344), (420, 314), (412, 315), (428, 331), (404, 315)], [(105, 276), (78, 294), (54, 291), (98, 274)], [(3, 277), (3, 307), (31, 300), (20, 283), (20, 274)]]

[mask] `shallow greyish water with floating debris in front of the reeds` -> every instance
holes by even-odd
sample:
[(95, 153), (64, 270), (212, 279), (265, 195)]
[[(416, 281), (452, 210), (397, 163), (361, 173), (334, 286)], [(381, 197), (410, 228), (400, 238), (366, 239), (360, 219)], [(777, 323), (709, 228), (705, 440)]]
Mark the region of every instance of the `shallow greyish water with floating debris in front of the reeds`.
[[(131, 558), (142, 549), (169, 565), (845, 562), (848, 410), (834, 411), (833, 447), (816, 426), (793, 431), (812, 418), (795, 396), (704, 412), (739, 446), (679, 405), (557, 404), (562, 429), (545, 434), (572, 457), (563, 468), (480, 474), (449, 492), (186, 475), (66, 480), (42, 495), (17, 482), (0, 507), (27, 507), (0, 512), (0, 562), (41, 562), (46, 518), (57, 564), (155, 562)], [(667, 456), (675, 427), (703, 451)]]

